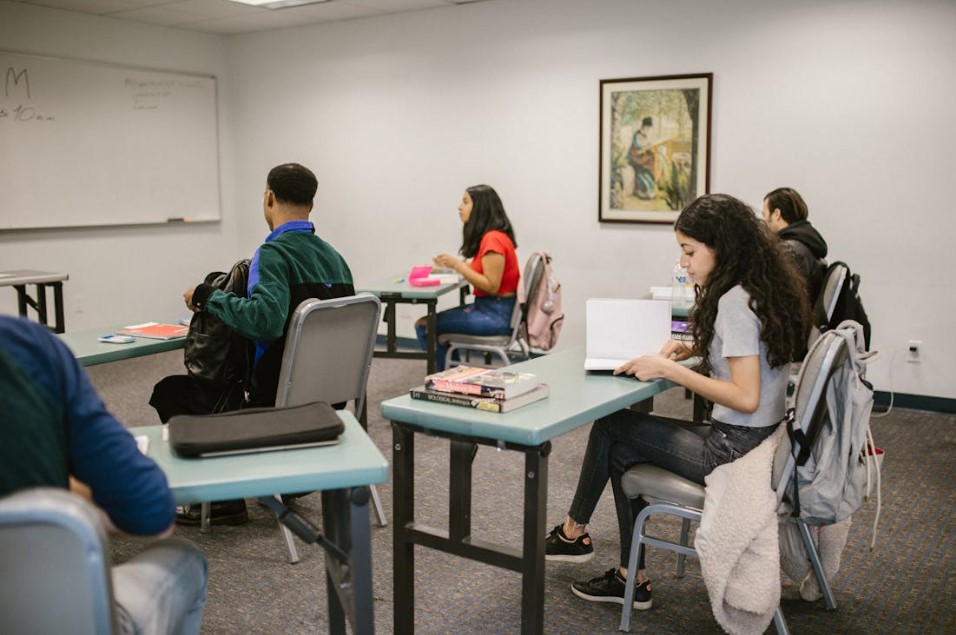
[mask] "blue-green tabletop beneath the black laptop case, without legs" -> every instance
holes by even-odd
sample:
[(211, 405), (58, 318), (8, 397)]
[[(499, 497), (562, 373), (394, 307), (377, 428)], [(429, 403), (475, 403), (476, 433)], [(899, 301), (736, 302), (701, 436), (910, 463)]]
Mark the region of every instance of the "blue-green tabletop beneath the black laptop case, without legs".
[(182, 458), (163, 440), (163, 426), (130, 428), (149, 437), (147, 454), (166, 473), (176, 503), (253, 498), (361, 487), (388, 480), (388, 462), (352, 413), (336, 445), (235, 456)]

